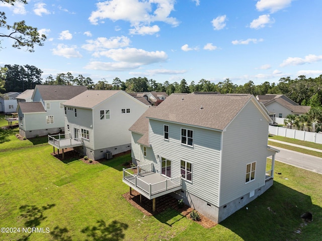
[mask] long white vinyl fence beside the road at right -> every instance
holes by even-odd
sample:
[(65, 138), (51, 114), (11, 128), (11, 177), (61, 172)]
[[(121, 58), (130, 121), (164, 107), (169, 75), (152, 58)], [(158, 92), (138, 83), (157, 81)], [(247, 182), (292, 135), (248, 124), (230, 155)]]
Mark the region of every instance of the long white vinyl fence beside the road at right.
[(268, 133), (298, 140), (311, 141), (322, 144), (322, 133), (308, 132), (302, 130), (287, 129), (285, 127), (269, 126)]

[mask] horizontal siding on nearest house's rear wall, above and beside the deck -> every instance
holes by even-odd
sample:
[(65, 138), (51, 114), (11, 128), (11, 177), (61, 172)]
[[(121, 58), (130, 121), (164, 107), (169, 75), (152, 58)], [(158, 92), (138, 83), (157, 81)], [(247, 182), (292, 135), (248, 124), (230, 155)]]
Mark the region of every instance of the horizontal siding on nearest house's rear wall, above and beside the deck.
[[(181, 176), (181, 160), (193, 165), (192, 182), (183, 180), (183, 189), (211, 204), (219, 202), (220, 136), (218, 131), (149, 120), (150, 144), (161, 172), (160, 157), (172, 161), (172, 177)], [(169, 125), (170, 141), (164, 141), (164, 125)], [(193, 131), (194, 148), (181, 144), (181, 128)], [(147, 162), (146, 162), (147, 163)], [(245, 174), (244, 174), (245, 178)], [(245, 182), (244, 182), (245, 183)]]

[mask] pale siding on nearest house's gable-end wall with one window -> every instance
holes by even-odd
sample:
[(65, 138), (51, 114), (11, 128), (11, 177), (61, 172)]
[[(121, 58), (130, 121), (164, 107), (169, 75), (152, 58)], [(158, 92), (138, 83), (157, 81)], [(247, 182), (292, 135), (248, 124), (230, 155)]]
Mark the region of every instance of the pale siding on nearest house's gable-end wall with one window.
[[(268, 121), (250, 101), (223, 132), (220, 205), (265, 185)], [(249, 133), (254, 133), (250, 135)], [(247, 165), (256, 162), (256, 179), (245, 183)]]

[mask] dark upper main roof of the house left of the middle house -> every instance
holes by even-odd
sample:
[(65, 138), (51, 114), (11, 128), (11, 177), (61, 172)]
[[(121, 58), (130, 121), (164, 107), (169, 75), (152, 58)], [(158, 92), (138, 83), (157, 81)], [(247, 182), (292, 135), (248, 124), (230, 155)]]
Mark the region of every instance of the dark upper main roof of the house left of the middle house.
[[(44, 101), (60, 101), (69, 100), (84, 91), (86, 86), (55, 86), (55, 85), (36, 85), (35, 91), (38, 89)], [(35, 94), (34, 91), (34, 94)], [(33, 94), (33, 97), (34, 97)]]

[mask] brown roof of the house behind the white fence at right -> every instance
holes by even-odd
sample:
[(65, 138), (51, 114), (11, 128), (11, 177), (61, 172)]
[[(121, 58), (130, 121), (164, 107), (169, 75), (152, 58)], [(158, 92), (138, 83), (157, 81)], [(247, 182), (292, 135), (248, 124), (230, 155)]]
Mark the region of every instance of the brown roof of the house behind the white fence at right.
[(291, 99), (289, 99), (284, 95), (271, 95), (271, 94), (258, 95), (256, 99), (262, 102), (264, 106), (268, 106), (273, 102), (277, 102), (294, 113), (304, 114), (308, 112), (311, 108), (310, 106), (300, 106), (299, 104), (297, 104), (296, 102), (292, 101)]

